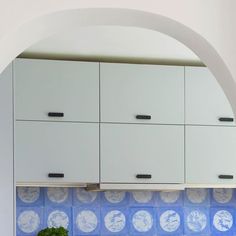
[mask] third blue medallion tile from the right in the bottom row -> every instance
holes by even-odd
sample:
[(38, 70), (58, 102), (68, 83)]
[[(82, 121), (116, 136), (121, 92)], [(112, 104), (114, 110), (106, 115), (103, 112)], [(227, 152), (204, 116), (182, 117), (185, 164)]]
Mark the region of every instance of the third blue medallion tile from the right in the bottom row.
[(182, 235), (183, 234), (183, 209), (181, 207), (157, 208), (159, 235)]

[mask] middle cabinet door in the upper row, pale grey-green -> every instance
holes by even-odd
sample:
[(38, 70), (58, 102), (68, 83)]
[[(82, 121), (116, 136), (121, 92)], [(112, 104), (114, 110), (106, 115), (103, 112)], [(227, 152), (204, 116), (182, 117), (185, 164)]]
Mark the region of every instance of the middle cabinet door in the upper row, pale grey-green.
[(184, 123), (184, 67), (101, 63), (100, 68), (102, 122)]

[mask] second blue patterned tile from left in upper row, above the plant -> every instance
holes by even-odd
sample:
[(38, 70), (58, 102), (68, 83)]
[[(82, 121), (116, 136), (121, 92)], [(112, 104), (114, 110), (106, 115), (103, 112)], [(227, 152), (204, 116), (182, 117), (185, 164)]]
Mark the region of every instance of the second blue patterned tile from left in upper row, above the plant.
[(71, 206), (71, 188), (45, 188), (45, 205), (47, 206)]

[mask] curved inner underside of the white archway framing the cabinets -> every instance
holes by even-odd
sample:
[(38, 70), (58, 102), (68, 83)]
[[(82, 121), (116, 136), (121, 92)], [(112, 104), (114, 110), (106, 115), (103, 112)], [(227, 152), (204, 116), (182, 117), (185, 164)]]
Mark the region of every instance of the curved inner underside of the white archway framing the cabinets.
[(176, 20), (150, 12), (117, 8), (88, 8), (52, 12), (32, 19), (5, 37), (6, 44), (2, 41), (0, 72), (18, 54), (37, 41), (70, 27), (90, 25), (141, 27), (165, 33), (182, 42), (195, 52), (214, 74), (236, 115), (236, 83), (212, 45), (197, 32)]

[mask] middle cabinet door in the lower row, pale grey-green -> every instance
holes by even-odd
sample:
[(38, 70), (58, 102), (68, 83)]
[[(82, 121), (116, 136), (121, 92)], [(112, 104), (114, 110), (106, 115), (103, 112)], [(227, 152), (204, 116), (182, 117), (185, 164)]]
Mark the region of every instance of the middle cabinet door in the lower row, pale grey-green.
[(102, 183), (184, 182), (182, 126), (101, 124), (100, 135)]

